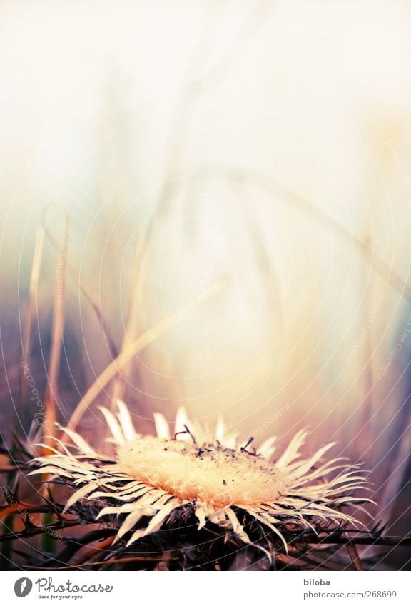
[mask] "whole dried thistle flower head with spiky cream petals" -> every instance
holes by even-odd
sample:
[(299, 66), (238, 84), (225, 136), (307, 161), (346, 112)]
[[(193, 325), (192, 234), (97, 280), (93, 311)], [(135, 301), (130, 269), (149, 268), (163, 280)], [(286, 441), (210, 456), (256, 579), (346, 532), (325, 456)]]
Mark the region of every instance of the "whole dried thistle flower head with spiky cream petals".
[[(182, 409), (174, 437), (159, 413), (154, 415), (157, 437), (141, 436), (126, 405), (117, 404), (116, 414), (101, 408), (116, 446), (113, 458), (98, 453), (70, 428), (61, 428), (71, 445), (67, 448), (56, 440), (54, 454), (34, 459), (39, 468), (31, 474), (53, 474), (76, 488), (64, 512), (82, 500), (103, 500), (96, 519), (116, 516), (116, 540), (125, 537), (127, 546), (167, 527), (178, 512), (183, 515), (189, 509), (196, 515), (198, 530), (210, 522), (268, 553), (250, 537), (256, 523), (274, 533), (286, 551), (286, 530), (316, 531), (322, 523), (355, 523), (342, 507), (367, 501), (351, 496), (352, 490), (366, 484), (358, 465), (340, 458), (323, 461), (333, 443), (302, 458), (305, 430), (270, 463), (275, 438), (265, 440), (257, 451), (250, 450), (251, 439), (239, 447), (219, 420), (210, 441), (200, 427), (188, 423)], [(113, 505), (107, 505), (108, 500)]]

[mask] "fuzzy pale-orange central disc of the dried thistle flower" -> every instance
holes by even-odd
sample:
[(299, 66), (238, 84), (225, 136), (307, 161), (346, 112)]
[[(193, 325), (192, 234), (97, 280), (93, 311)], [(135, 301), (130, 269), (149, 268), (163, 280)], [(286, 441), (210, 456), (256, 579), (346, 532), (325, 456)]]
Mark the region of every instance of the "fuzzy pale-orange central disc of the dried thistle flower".
[(138, 438), (118, 448), (118, 469), (211, 507), (258, 505), (285, 493), (285, 474), (263, 458), (213, 444)]

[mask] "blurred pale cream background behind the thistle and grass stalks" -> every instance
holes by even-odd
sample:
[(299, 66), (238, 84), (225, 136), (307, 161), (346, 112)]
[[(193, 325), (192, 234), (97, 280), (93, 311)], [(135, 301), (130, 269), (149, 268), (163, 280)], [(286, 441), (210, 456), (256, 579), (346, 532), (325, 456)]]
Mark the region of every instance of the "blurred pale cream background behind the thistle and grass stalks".
[[(410, 1), (14, 0), (0, 11), (3, 423), (17, 405), (36, 228), (45, 221), (60, 245), (65, 209), (62, 419), (121, 348), (228, 276), (98, 402), (121, 395), (142, 427), (181, 403), (258, 439), (308, 425), (309, 448), (337, 440), (373, 470), (379, 517), (407, 515)], [(46, 236), (39, 388), (57, 262)]]

